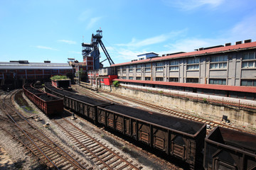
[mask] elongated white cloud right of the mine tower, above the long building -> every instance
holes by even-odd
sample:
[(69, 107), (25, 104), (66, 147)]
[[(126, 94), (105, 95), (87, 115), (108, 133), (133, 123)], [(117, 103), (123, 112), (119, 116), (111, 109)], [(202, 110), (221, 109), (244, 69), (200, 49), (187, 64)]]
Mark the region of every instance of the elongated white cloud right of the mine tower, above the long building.
[(135, 38), (132, 38), (132, 42), (129, 42), (127, 44), (117, 44), (117, 46), (126, 46), (126, 47), (142, 47), (146, 45), (154, 45), (160, 42), (164, 42), (170, 38), (174, 38), (178, 35), (181, 35), (181, 33), (184, 33), (186, 30), (180, 30), (180, 31), (173, 31), (168, 34), (162, 34), (158, 35), (153, 38), (146, 38), (144, 40), (136, 40)]

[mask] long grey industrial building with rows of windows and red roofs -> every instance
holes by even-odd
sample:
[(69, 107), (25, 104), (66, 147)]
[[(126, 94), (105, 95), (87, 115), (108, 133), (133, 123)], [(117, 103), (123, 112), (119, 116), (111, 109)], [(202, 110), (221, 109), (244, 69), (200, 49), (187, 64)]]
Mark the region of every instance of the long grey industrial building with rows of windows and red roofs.
[(123, 84), (255, 99), (256, 42), (245, 40), (111, 67)]

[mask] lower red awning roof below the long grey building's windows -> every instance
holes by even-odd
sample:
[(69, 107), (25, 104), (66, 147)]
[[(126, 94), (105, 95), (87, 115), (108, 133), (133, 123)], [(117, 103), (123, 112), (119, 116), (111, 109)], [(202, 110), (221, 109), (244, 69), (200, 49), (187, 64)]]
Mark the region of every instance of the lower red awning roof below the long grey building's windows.
[(227, 86), (227, 85), (217, 85), (217, 84), (191, 84), (191, 83), (176, 83), (176, 82), (166, 82), (166, 81), (142, 81), (142, 80), (130, 80), (130, 79), (113, 79), (113, 81), (121, 82), (132, 82), (141, 84), (159, 84), (167, 86), (183, 86), (199, 89), (213, 89), (213, 90), (223, 90), (223, 91), (240, 91), (247, 93), (256, 93), (256, 87), (253, 86)]

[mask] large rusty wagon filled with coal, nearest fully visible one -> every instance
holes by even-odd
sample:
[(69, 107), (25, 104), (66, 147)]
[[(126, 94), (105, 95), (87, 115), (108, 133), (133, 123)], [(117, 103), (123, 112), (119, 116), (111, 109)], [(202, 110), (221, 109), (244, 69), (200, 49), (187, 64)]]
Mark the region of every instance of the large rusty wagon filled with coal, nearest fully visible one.
[(97, 107), (97, 122), (167, 155), (201, 162), (206, 124), (118, 104)]

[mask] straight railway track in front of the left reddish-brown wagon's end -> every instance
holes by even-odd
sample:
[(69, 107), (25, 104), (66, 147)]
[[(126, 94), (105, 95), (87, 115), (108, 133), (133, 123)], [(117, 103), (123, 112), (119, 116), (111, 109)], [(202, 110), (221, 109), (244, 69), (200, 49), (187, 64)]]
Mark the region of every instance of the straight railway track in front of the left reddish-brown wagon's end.
[(91, 135), (80, 130), (80, 128), (67, 119), (62, 118), (60, 120), (54, 120), (54, 122), (61, 128), (61, 130), (63, 130), (65, 135), (67, 135), (70, 140), (72, 140), (75, 145), (87, 155), (87, 157), (90, 157), (90, 159), (95, 162), (99, 169), (142, 169), (142, 166), (133, 164), (127, 157), (119, 155), (119, 152), (116, 152), (112, 148), (108, 148), (105, 144), (100, 142), (100, 140), (91, 137)]

